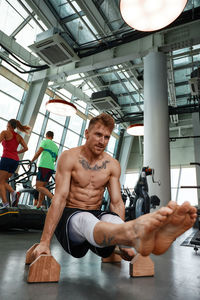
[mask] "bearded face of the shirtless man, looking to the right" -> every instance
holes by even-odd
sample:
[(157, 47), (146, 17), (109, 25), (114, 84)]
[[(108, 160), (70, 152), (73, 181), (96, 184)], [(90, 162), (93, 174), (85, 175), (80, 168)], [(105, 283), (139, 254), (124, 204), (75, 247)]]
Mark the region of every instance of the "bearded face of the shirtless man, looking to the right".
[(86, 129), (86, 144), (91, 152), (95, 155), (100, 155), (108, 145), (110, 135), (111, 131), (98, 122), (92, 128)]

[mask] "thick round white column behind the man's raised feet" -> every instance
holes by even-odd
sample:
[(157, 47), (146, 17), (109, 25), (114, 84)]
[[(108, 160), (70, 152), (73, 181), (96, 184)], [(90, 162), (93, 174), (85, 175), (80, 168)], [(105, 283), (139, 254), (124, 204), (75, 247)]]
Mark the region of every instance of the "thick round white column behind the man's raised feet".
[(151, 52), (144, 59), (144, 166), (155, 170), (152, 183), (148, 177), (149, 194), (157, 195), (161, 206), (171, 198), (169, 115), (166, 56)]

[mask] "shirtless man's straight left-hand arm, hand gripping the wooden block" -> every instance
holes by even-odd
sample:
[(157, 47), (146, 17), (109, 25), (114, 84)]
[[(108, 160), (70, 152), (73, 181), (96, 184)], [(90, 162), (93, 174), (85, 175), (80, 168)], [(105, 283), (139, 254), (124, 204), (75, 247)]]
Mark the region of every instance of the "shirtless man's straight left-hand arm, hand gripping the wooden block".
[(69, 158), (68, 151), (64, 151), (58, 160), (55, 195), (46, 216), (40, 244), (34, 251), (35, 257), (42, 253), (50, 254), (51, 238), (66, 206), (73, 167), (72, 161), (72, 158)]

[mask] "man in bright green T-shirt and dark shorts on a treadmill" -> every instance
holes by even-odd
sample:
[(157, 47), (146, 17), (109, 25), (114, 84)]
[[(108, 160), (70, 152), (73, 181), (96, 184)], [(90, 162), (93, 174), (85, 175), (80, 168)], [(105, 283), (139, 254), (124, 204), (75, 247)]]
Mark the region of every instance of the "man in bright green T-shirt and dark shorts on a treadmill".
[(35, 161), (41, 154), (40, 161), (38, 164), (38, 173), (36, 177), (36, 190), (39, 192), (39, 198), (35, 201), (34, 205), (40, 208), (46, 195), (52, 199), (53, 194), (46, 188), (46, 185), (54, 173), (55, 162), (58, 156), (58, 147), (53, 142), (54, 133), (47, 131), (46, 139), (44, 139), (38, 151), (35, 153), (32, 162)]

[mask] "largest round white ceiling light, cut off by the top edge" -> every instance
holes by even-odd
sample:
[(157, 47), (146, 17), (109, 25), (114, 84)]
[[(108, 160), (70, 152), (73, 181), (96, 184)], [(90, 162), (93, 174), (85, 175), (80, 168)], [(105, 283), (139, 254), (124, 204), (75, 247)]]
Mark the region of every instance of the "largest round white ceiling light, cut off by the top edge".
[(130, 27), (154, 31), (171, 24), (186, 3), (187, 0), (120, 0), (120, 12)]

